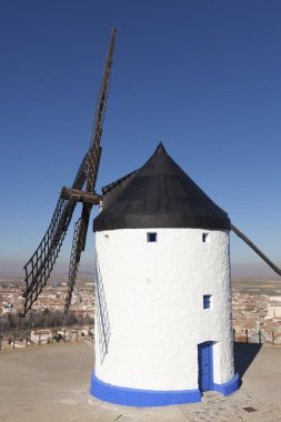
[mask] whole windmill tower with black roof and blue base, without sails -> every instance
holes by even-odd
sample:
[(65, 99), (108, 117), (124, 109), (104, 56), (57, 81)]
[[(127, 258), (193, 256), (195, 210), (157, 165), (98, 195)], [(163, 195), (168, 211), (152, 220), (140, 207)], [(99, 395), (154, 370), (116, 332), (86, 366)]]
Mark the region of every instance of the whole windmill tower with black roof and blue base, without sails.
[(140, 406), (230, 394), (239, 380), (227, 213), (162, 144), (103, 194), (91, 393)]

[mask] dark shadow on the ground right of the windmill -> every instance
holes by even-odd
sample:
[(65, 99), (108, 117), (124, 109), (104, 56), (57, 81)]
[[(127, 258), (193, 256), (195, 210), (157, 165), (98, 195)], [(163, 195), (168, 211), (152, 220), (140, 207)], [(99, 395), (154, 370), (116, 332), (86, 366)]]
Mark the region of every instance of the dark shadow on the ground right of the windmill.
[(242, 380), (243, 374), (251, 365), (261, 348), (262, 344), (234, 342), (234, 368), (235, 373), (239, 373), (240, 380)]

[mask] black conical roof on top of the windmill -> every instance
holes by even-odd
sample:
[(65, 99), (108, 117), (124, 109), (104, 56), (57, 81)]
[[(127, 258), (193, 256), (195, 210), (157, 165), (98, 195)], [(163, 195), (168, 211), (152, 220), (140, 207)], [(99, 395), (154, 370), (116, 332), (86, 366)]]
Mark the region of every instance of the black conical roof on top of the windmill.
[(93, 221), (94, 231), (142, 228), (230, 230), (230, 220), (160, 143)]

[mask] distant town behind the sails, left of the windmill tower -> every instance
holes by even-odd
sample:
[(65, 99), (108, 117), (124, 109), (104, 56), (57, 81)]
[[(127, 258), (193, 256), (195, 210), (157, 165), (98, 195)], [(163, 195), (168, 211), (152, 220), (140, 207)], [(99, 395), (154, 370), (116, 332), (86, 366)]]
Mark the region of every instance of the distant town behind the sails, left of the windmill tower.
[(32, 310), (26, 318), (19, 316), (23, 309), (24, 282), (18, 278), (0, 278), (0, 334), (30, 329), (62, 325), (93, 325), (93, 279), (77, 280), (67, 318), (63, 315), (68, 278), (50, 279)]

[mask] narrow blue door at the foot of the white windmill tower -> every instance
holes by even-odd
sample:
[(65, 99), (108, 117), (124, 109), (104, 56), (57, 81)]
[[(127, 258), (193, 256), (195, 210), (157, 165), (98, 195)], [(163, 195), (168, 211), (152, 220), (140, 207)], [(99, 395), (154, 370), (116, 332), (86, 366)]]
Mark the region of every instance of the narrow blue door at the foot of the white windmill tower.
[(212, 342), (198, 345), (199, 390), (213, 390)]

